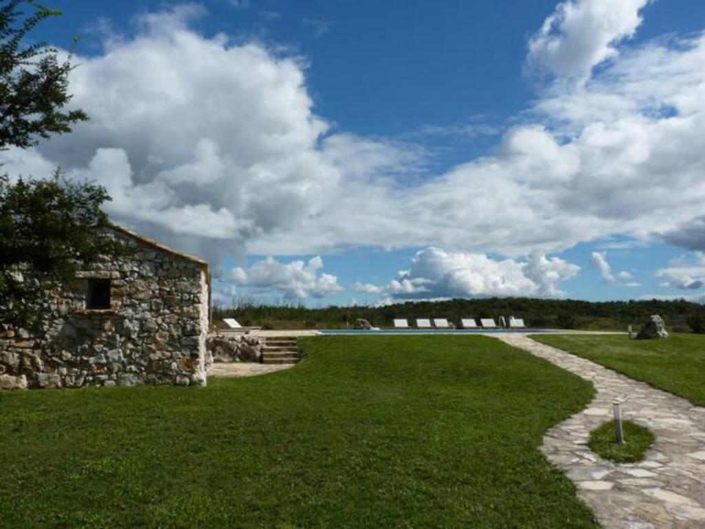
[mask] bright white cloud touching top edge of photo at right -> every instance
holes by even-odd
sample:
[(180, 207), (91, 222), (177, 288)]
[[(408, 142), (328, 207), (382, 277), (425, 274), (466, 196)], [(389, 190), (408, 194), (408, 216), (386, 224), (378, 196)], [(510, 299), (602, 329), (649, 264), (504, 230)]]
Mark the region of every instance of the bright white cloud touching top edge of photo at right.
[(617, 55), (632, 37), (649, 0), (565, 0), (529, 40), (529, 68), (567, 78), (587, 78), (592, 68)]

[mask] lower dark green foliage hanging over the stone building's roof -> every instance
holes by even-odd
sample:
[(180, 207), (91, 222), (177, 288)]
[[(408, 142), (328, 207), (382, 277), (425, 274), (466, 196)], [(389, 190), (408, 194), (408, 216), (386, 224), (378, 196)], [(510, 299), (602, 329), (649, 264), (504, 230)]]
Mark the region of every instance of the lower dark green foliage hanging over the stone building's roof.
[(106, 200), (101, 186), (66, 181), (59, 171), (16, 183), (0, 176), (0, 320), (31, 323), (42, 281), (70, 281), (99, 255), (119, 251), (96, 236), (109, 226)]

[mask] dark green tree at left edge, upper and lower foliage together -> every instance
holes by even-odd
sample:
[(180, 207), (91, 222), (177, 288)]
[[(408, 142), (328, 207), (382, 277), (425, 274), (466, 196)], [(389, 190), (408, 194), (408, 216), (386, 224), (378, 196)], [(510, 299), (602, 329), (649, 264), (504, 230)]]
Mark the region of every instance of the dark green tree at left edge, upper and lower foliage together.
[[(32, 147), (87, 119), (63, 110), (71, 56), (60, 61), (58, 50), (26, 44), (37, 24), (59, 14), (34, 0), (0, 0), (0, 150)], [(79, 267), (118, 251), (96, 236), (109, 225), (106, 200), (101, 186), (67, 181), (59, 169), (47, 180), (0, 176), (0, 322), (30, 324), (44, 281), (73, 279)]]

